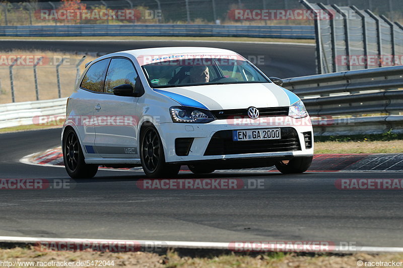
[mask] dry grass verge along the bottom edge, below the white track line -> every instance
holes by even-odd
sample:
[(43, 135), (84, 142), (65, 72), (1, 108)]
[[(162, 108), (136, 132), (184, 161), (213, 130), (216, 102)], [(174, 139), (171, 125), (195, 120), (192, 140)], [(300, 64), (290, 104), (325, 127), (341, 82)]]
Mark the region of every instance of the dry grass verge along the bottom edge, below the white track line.
[[(186, 254), (176, 251), (168, 251), (157, 254), (150, 252), (88, 252), (88, 251), (61, 251), (61, 252), (42, 252), (36, 251), (33, 247), (14, 247), (0, 249), (0, 259), (4, 261), (14, 262), (34, 261), (30, 267), (43, 267), (43, 264), (51, 264), (48, 262), (59, 262), (59, 265), (45, 265), (67, 267), (63, 264), (66, 262), (77, 261), (113, 261), (113, 265), (104, 265), (104, 267), (357, 267), (358, 261), (403, 261), (402, 253), (385, 253), (385, 254), (331, 254), (331, 253), (282, 253), (271, 252), (262, 254), (247, 253), (224, 253), (224, 254)], [(42, 265), (38, 265), (42, 264)], [(61, 264), (61, 265), (60, 265)], [(27, 265), (15, 265), (13, 267), (26, 267)], [(90, 265), (84, 265), (91, 267)], [(83, 266), (83, 267), (84, 267)]]

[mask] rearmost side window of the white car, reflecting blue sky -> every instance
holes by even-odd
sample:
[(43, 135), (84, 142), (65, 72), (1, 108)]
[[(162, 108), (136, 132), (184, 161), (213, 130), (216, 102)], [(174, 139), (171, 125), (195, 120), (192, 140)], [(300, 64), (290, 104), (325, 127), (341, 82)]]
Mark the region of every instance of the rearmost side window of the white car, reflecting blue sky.
[(80, 86), (86, 90), (103, 92), (108, 64), (109, 59), (103, 59), (92, 64), (85, 74)]

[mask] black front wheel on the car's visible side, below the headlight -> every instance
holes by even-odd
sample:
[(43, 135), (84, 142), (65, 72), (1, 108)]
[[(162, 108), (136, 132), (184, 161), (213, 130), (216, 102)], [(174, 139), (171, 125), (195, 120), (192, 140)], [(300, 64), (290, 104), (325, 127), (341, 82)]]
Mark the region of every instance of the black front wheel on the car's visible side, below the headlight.
[(155, 127), (149, 126), (142, 131), (140, 144), (140, 159), (148, 177), (170, 177), (178, 174), (180, 165), (165, 162), (164, 148)]

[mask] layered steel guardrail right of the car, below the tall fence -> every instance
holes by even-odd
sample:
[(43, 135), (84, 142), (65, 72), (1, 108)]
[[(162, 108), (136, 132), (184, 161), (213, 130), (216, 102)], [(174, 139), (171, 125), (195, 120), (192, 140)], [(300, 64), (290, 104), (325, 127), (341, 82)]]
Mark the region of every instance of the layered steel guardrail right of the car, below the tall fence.
[(316, 135), (403, 132), (403, 66), (293, 77), (283, 86), (316, 117)]

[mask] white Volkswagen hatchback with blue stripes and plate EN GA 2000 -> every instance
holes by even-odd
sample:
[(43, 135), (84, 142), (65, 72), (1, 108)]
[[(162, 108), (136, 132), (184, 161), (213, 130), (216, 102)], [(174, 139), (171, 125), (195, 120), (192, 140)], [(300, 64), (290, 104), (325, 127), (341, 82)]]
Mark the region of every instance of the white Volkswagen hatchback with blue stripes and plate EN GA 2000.
[(73, 178), (98, 166), (143, 166), (169, 177), (276, 165), (308, 169), (313, 132), (302, 101), (236, 52), (166, 47), (116, 52), (87, 64), (61, 134)]

